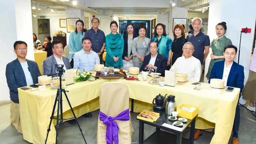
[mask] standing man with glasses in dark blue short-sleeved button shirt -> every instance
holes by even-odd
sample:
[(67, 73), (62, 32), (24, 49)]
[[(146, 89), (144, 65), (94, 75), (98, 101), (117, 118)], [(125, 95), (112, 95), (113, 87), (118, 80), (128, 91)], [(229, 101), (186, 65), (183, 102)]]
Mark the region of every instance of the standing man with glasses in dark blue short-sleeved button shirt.
[(98, 29), (100, 25), (100, 20), (98, 18), (93, 18), (91, 20), (91, 25), (93, 27), (85, 32), (84, 37), (88, 37), (91, 39), (91, 51), (94, 51), (98, 54), (100, 58), (100, 64), (102, 64), (102, 54), (104, 53), (106, 39), (105, 33), (102, 30)]

